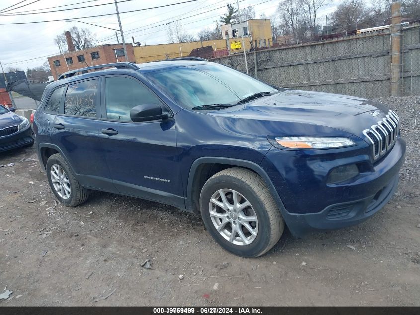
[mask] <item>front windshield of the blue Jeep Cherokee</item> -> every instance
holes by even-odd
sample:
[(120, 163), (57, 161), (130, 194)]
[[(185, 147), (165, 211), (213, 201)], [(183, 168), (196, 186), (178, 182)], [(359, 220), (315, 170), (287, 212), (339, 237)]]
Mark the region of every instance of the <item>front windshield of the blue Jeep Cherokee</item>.
[(236, 104), (258, 92), (277, 92), (268, 84), (219, 64), (163, 69), (145, 75), (179, 105), (189, 109), (209, 104)]

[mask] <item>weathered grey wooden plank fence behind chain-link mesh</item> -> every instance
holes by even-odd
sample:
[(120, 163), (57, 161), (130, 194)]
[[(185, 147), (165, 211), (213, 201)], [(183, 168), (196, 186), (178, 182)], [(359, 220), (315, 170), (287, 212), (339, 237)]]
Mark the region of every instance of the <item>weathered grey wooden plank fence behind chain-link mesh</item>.
[[(420, 93), (419, 27), (402, 33), (402, 95)], [(272, 85), (377, 98), (390, 95), (389, 32), (247, 54), (249, 74)], [(255, 63), (256, 59), (256, 63)], [(212, 61), (246, 72), (244, 54)]]

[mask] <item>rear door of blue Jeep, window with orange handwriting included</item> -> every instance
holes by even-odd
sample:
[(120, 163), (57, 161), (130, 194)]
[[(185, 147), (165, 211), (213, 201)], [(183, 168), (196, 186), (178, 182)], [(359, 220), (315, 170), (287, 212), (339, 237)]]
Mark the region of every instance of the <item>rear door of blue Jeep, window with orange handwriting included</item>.
[(67, 85), (50, 129), (82, 185), (115, 191), (98, 138), (100, 83), (100, 78), (94, 78)]

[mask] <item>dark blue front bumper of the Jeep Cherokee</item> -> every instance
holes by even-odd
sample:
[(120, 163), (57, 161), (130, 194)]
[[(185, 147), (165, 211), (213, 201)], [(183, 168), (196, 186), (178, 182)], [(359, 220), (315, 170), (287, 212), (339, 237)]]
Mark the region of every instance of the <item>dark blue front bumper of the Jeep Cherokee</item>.
[[(393, 149), (372, 164), (363, 148), (312, 156), (297, 153), (288, 159), (279, 159), (286, 155), (277, 149), (271, 156), (270, 152), (267, 154), (261, 166), (275, 167), (277, 177), (274, 171), (267, 173), (283, 202), (279, 209), (291, 233), (302, 237), (316, 229), (356, 225), (382, 209), (397, 188), (405, 150), (405, 141), (399, 137)], [(350, 181), (327, 184), (329, 171), (340, 163), (370, 167)]]

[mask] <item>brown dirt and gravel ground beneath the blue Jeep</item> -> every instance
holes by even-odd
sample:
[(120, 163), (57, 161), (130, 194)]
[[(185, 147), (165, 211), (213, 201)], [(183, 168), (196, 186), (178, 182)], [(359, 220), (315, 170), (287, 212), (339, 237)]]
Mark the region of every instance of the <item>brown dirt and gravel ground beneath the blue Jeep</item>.
[(0, 165), (15, 164), (0, 168), (0, 294), (13, 291), (0, 306), (419, 306), (420, 98), (382, 102), (408, 146), (394, 198), (355, 227), (286, 231), (256, 259), (224, 251), (199, 216), (170, 206), (97, 192), (63, 207), (38, 162), (19, 162), (33, 148), (1, 153)]

